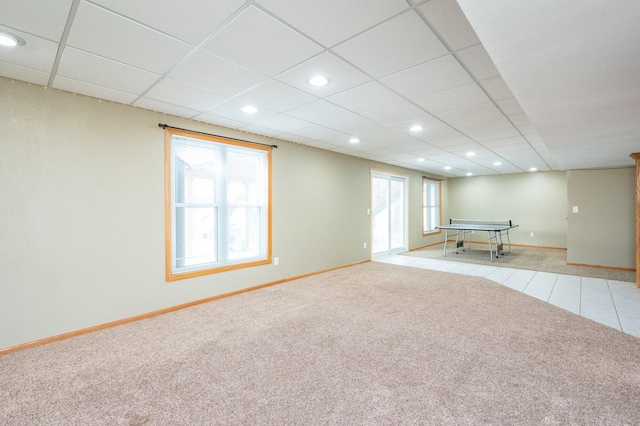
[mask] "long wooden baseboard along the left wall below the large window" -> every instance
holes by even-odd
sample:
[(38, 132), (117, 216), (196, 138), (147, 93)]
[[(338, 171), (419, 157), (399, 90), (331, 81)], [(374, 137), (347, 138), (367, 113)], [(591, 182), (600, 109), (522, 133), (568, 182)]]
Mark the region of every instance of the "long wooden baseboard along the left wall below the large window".
[(192, 306), (201, 305), (203, 303), (213, 302), (215, 300), (223, 299), (225, 297), (235, 296), (237, 294), (246, 293), (246, 292), (254, 291), (254, 290), (259, 290), (261, 288), (271, 287), (271, 286), (278, 285), (278, 284), (283, 284), (283, 283), (286, 283), (286, 282), (289, 282), (289, 281), (295, 281), (295, 280), (299, 280), (301, 278), (311, 277), (311, 276), (314, 276), (314, 275), (323, 274), (325, 272), (335, 271), (335, 270), (342, 269), (342, 268), (348, 268), (350, 266), (355, 266), (355, 265), (359, 265), (359, 264), (367, 263), (367, 262), (370, 262), (370, 260), (362, 260), (362, 261), (359, 261), (359, 262), (349, 263), (349, 264), (346, 264), (346, 265), (341, 265), (341, 266), (336, 266), (336, 267), (333, 267), (333, 268), (323, 269), (323, 270), (320, 270), (320, 271), (310, 272), (308, 274), (302, 274), (302, 275), (297, 275), (295, 277), (284, 278), (284, 279), (281, 279), (281, 280), (272, 281), (272, 282), (265, 283), (265, 284), (259, 284), (259, 285), (256, 285), (256, 286), (243, 288), (241, 290), (236, 290), (236, 291), (232, 291), (232, 292), (229, 292), (229, 293), (224, 293), (224, 294), (219, 294), (219, 295), (212, 296), (212, 297), (207, 297), (205, 299), (194, 300), (193, 302), (187, 302), (187, 303), (183, 303), (183, 304), (176, 305), (176, 306), (170, 306), (168, 308), (159, 309), (157, 311), (152, 311), (152, 312), (147, 312), (145, 314), (135, 315), (135, 316), (132, 316), (132, 317), (123, 318), (123, 319), (120, 319), (120, 320), (111, 321), (111, 322), (107, 322), (107, 323), (104, 323), (104, 324), (94, 325), (92, 327), (82, 328), (80, 330), (70, 331), (68, 333), (58, 334), (58, 335), (51, 336), (51, 337), (45, 337), (43, 339), (34, 340), (34, 341), (31, 341), (31, 342), (27, 342), (27, 343), (21, 343), (19, 345), (10, 346), (8, 348), (0, 349), (0, 356), (1, 355), (6, 355), (6, 354), (11, 353), (11, 352), (17, 352), (17, 351), (21, 351), (21, 350), (24, 350), (24, 349), (33, 348), (33, 347), (36, 347), (36, 346), (46, 345), (48, 343), (58, 342), (60, 340), (70, 339), (72, 337), (81, 336), (81, 335), (87, 334), (87, 333), (93, 333), (94, 331), (104, 330), (104, 329), (107, 329), (107, 328), (117, 327), (117, 326), (122, 325), (122, 324), (128, 324), (130, 322), (140, 321), (140, 320), (156, 317), (158, 315), (168, 314), (169, 312), (175, 312), (175, 311), (179, 311), (181, 309), (190, 308)]

